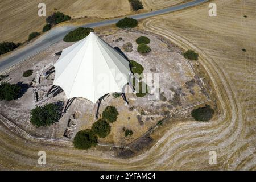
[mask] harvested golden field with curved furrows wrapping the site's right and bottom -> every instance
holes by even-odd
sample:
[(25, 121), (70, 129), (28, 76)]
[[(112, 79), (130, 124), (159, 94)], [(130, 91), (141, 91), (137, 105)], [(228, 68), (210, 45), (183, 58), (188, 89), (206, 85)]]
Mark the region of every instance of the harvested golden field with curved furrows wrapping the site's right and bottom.
[[(217, 3), (216, 18), (208, 16), (205, 3), (146, 19), (142, 28), (199, 53), (200, 67), (216, 93), (218, 117), (207, 123), (168, 123), (153, 134), (158, 138), (154, 147), (131, 159), (117, 159), (98, 148), (79, 151), (25, 142), (0, 125), (0, 168), (255, 170), (256, 2), (213, 2)], [(40, 150), (47, 154), (45, 167), (37, 164)], [(217, 152), (217, 165), (209, 165), (209, 151)]]

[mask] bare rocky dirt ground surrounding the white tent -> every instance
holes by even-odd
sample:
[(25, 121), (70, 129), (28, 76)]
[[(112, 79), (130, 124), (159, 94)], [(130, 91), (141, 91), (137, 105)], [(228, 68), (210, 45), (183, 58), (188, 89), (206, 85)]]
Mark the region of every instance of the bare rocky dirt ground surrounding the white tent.
[[(162, 42), (152, 34), (145, 34), (143, 31), (115, 31), (111, 35), (109, 32), (100, 32), (100, 35), (112, 47), (119, 47), (129, 57), (130, 60), (135, 60), (142, 64), (144, 67), (144, 78), (147, 73), (156, 74), (159, 76), (159, 84), (154, 82), (155, 78), (152, 77), (153, 82), (147, 82), (148, 86), (157, 86), (156, 89), (160, 90), (160, 97), (150, 99), (150, 94), (142, 98), (137, 98), (132, 92), (126, 94), (129, 105), (125, 105), (122, 97), (113, 98), (112, 93), (104, 98), (100, 105), (99, 114), (101, 115), (106, 106), (113, 105), (117, 107), (119, 116), (116, 122), (112, 124), (112, 131), (110, 135), (104, 139), (99, 139), (100, 143), (115, 144), (126, 146), (135, 139), (138, 139), (146, 133), (148, 129), (155, 126), (160, 119), (166, 118), (168, 115), (174, 113), (178, 109), (186, 106), (196, 104), (200, 101), (207, 100), (205, 94), (201, 91), (200, 84), (195, 80), (195, 73), (189, 67), (188, 61), (180, 55), (180, 49), (172, 47), (171, 44)], [(137, 52), (137, 43), (135, 40), (139, 36), (147, 36), (151, 42), (149, 46), (152, 51), (147, 55), (141, 55)], [(122, 38), (121, 41), (118, 39)], [(133, 44), (131, 52), (125, 52), (123, 44), (130, 42)], [(27, 92), (18, 101), (0, 101), (1, 111), (0, 114), (14, 121), (22, 129), (36, 137), (45, 137), (51, 139), (65, 139), (72, 140), (77, 131), (82, 129), (90, 129), (95, 122), (94, 120), (94, 105), (92, 102), (83, 98), (76, 98), (67, 113), (59, 122), (48, 127), (36, 128), (30, 123), (30, 110), (36, 105), (43, 105), (49, 102), (65, 101), (65, 94), (61, 92), (55, 97), (50, 97), (45, 102), (34, 100), (34, 92), (43, 94), (41, 90), (36, 91), (37, 88), (47, 90), (52, 84), (54, 73), (48, 77), (42, 76), (53, 63), (58, 59), (54, 53), (61, 51), (65, 47), (70, 46), (72, 43), (59, 42), (49, 47), (46, 51), (39, 53), (28, 59), (26, 63), (20, 65), (17, 69), (11, 71), (6, 80), (11, 80), (11, 83), (22, 82), (23, 84), (30, 84), (32, 80), (38, 80), (40, 76), (40, 84), (36, 87), (30, 87)], [(30, 77), (22, 77), (22, 73), (27, 69), (34, 71)], [(186, 83), (191, 82), (188, 86)], [(146, 82), (146, 80), (144, 80)], [(157, 81), (157, 80), (155, 80)], [(46, 86), (43, 86), (46, 85)], [(128, 87), (129, 88), (129, 87)], [(153, 89), (152, 89), (153, 90)], [(154, 94), (154, 93), (152, 93)], [(44, 98), (46, 99), (46, 98)], [(71, 139), (63, 136), (67, 128), (69, 118), (75, 112), (80, 113), (80, 118), (77, 119), (77, 126)], [(100, 116), (99, 115), (99, 116)], [(133, 135), (125, 137), (123, 127), (132, 130)]]

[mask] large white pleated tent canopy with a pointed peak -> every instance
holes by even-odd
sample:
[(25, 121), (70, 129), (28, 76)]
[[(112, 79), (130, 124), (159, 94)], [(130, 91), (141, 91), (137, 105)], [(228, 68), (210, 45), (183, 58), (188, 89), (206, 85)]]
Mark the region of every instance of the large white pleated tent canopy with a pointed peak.
[(64, 49), (54, 65), (53, 85), (68, 99), (86, 98), (96, 103), (112, 92), (122, 92), (129, 82), (129, 61), (94, 32)]

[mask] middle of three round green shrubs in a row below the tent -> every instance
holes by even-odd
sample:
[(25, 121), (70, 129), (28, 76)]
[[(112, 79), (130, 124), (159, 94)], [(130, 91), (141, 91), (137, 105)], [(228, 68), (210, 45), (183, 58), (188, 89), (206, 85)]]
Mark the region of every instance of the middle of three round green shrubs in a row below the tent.
[(92, 132), (100, 138), (104, 138), (110, 134), (111, 131), (111, 126), (109, 125), (108, 122), (99, 119), (95, 123), (93, 123), (92, 126)]

